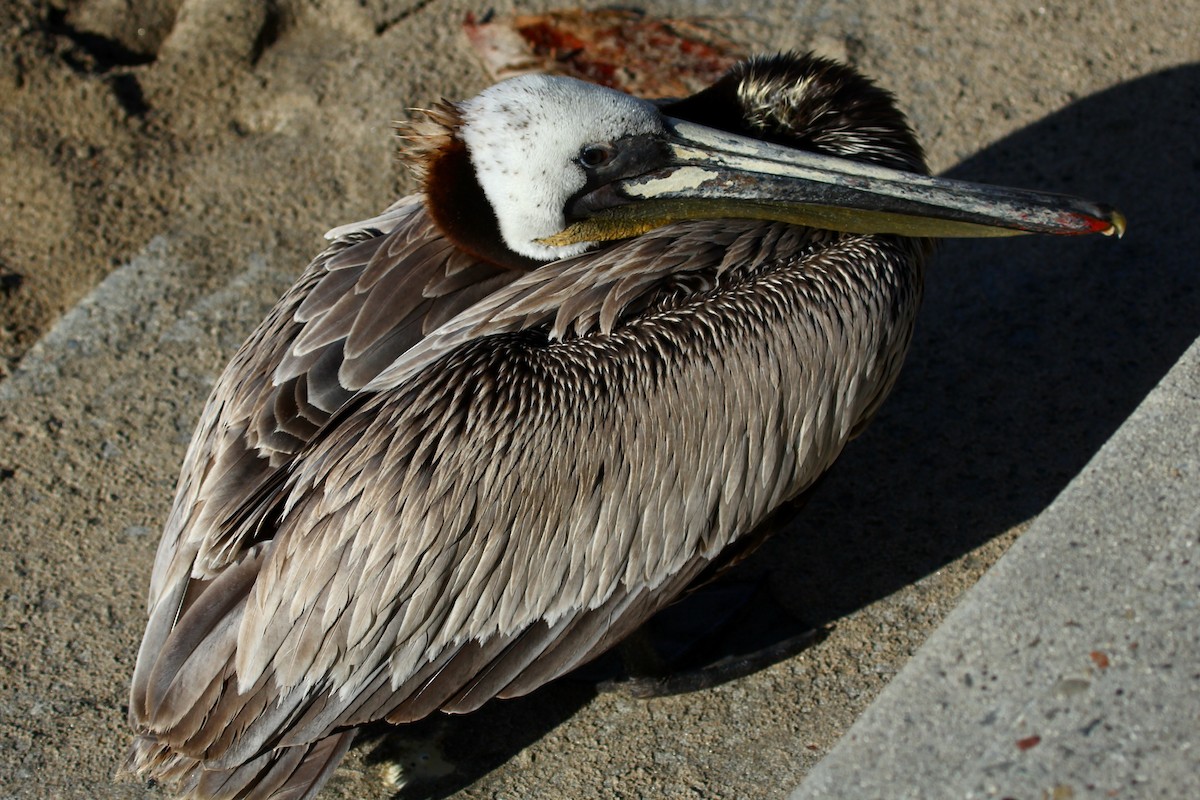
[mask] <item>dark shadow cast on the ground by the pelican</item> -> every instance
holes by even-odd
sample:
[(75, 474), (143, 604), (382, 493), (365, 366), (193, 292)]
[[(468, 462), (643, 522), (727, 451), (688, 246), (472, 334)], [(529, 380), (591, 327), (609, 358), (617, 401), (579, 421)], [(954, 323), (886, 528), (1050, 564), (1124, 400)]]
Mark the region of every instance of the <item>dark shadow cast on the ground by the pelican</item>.
[[(736, 572), (767, 576), (779, 604), (823, 627), (1045, 509), (1200, 335), (1198, 119), (1200, 67), (1178, 67), (952, 169), (1112, 203), (1128, 234), (944, 242), (893, 397), (804, 512)], [(590, 680), (406, 726), (367, 759), (432, 759), (396, 798), (449, 796), (574, 715)]]

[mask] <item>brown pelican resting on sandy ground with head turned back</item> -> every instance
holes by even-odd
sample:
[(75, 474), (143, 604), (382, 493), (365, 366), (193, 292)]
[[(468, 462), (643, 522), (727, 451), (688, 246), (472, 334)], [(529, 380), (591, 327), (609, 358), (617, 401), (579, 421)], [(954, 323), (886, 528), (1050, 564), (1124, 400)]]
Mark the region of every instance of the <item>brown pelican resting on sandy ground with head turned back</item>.
[(311, 798), (360, 726), (530, 692), (743, 555), (892, 387), (929, 236), (1123, 229), (929, 178), (811, 56), (515, 78), (415, 139), (424, 192), (330, 231), (187, 451), (128, 760), (186, 796)]

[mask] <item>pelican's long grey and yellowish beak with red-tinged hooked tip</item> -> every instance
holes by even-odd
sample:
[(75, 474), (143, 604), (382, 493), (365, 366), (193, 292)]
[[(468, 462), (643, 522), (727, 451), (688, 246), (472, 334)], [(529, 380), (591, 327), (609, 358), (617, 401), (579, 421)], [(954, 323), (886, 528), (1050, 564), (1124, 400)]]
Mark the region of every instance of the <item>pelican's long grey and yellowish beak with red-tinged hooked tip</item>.
[(1114, 207), (930, 178), (668, 120), (666, 163), (605, 185), (547, 245), (626, 239), (680, 219), (755, 218), (905, 236), (1124, 233)]

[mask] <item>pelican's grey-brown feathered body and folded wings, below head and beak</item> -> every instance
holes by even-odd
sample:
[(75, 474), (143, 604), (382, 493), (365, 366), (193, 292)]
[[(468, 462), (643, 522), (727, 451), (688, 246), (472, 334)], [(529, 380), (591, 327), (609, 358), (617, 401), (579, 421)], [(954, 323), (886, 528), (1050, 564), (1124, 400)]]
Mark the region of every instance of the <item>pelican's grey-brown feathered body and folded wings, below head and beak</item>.
[(190, 796), (311, 796), (355, 726), (602, 652), (824, 471), (907, 348), (863, 320), (919, 300), (901, 240), (866, 293), (866, 237), (774, 223), (528, 273), (412, 199), (331, 235), (220, 379), (155, 565), (130, 766)]

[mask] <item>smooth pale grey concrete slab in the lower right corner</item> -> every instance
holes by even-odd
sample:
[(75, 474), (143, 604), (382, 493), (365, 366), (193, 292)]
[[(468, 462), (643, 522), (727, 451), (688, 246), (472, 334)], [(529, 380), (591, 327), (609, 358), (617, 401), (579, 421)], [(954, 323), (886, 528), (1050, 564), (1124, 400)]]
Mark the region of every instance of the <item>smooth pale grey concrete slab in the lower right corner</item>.
[(1200, 798), (1200, 341), (791, 800)]

